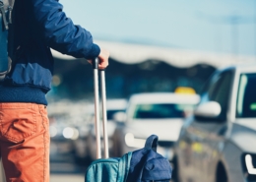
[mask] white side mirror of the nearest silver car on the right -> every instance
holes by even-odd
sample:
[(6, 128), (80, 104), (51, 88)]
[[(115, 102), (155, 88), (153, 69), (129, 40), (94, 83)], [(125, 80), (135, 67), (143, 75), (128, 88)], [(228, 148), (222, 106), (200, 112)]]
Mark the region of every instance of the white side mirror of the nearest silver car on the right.
[(194, 114), (197, 117), (204, 118), (216, 118), (221, 114), (222, 107), (220, 103), (216, 101), (208, 101), (202, 104), (199, 104), (195, 109)]

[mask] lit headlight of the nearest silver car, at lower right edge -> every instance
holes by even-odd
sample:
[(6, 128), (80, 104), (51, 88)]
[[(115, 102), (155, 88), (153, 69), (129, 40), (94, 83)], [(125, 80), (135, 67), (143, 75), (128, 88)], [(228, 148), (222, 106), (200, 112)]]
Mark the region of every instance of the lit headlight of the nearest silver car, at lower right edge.
[(244, 153), (241, 157), (242, 168), (248, 182), (256, 180), (256, 154)]

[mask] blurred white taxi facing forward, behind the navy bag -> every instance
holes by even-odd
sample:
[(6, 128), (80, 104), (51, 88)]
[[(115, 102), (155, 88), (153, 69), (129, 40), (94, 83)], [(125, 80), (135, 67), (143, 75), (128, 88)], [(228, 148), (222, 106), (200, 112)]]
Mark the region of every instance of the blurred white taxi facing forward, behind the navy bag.
[(159, 136), (160, 152), (171, 159), (183, 118), (199, 102), (197, 94), (172, 92), (136, 93), (131, 95), (126, 110), (126, 121), (117, 125), (113, 134), (113, 156), (144, 147), (146, 139)]

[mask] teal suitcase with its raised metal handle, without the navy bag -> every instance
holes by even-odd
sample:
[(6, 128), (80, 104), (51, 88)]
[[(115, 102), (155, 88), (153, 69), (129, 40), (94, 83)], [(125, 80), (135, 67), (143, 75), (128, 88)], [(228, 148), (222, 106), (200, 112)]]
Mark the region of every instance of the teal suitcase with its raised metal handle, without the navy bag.
[[(108, 137), (107, 137), (107, 121), (106, 121), (106, 93), (105, 93), (105, 78), (104, 70), (98, 69), (98, 59), (93, 61), (94, 71), (94, 88), (95, 88), (95, 130), (96, 130), (96, 160), (88, 167), (85, 181), (86, 182), (123, 182), (127, 173), (127, 166), (131, 158), (131, 153), (126, 154), (122, 158), (109, 158), (108, 153)], [(99, 88), (98, 75), (100, 76), (100, 92), (101, 92), (101, 106), (102, 106), (102, 127), (103, 127), (103, 144), (104, 144), (104, 158), (101, 158), (100, 147), (100, 122), (99, 122)]]

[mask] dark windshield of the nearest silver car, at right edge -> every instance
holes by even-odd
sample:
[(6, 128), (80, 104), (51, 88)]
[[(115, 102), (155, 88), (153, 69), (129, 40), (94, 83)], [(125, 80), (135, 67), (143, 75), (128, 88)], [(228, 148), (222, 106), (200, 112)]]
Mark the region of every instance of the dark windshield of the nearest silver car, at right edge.
[(241, 74), (240, 76), (236, 117), (256, 117), (256, 74)]

